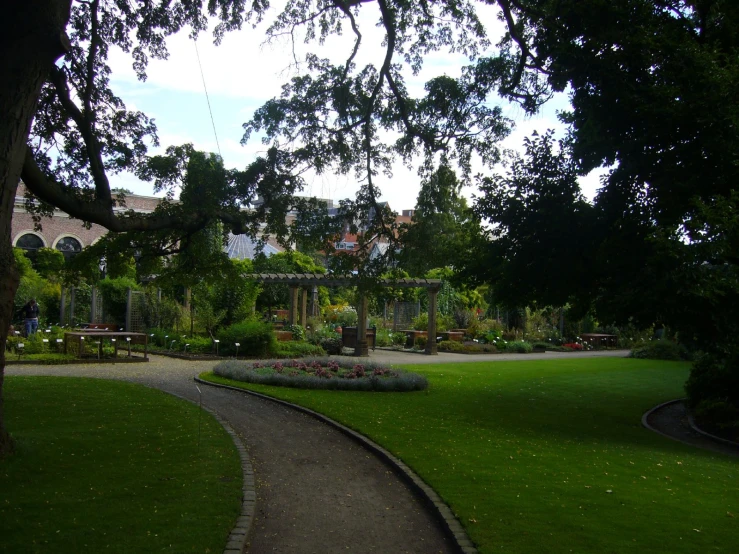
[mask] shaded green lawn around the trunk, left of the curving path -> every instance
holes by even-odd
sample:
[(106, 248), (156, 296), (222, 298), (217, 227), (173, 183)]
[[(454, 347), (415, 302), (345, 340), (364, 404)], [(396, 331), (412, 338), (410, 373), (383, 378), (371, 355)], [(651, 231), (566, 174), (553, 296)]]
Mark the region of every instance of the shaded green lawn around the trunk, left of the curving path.
[(222, 552), (241, 505), (233, 441), (198, 407), (124, 382), (6, 377), (0, 552)]

